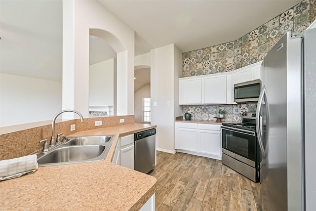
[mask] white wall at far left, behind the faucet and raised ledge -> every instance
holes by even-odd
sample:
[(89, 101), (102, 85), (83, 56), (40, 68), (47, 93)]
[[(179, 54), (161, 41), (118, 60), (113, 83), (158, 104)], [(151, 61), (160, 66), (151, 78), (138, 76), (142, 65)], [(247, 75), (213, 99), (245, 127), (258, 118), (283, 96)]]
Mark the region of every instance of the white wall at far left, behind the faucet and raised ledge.
[(0, 74), (0, 127), (51, 120), (61, 111), (61, 82)]

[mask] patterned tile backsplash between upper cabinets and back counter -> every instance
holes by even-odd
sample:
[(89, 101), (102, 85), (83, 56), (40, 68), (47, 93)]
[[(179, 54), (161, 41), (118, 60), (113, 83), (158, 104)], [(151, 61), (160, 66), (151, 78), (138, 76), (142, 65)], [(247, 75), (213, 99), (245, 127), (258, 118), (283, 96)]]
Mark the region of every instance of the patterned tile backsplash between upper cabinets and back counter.
[(215, 116), (218, 115), (218, 110), (226, 111), (222, 121), (241, 122), (243, 112), (256, 112), (257, 103), (234, 104), (234, 105), (183, 105), (182, 112), (191, 112), (191, 119), (194, 120), (209, 120), (216, 121)]

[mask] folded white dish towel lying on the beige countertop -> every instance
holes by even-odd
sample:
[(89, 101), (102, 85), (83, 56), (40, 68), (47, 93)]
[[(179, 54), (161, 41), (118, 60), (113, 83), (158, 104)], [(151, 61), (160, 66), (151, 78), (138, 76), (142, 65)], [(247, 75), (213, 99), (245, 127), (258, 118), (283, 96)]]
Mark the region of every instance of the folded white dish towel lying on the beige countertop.
[(0, 181), (33, 173), (37, 169), (39, 169), (37, 155), (3, 160), (0, 161)]

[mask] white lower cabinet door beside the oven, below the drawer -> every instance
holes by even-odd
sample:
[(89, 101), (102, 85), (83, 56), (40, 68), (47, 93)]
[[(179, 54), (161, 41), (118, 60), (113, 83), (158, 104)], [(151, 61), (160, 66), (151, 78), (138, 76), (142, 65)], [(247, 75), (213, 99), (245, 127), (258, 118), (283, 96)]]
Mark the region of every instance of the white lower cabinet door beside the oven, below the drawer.
[(221, 132), (214, 130), (198, 130), (199, 153), (221, 156)]

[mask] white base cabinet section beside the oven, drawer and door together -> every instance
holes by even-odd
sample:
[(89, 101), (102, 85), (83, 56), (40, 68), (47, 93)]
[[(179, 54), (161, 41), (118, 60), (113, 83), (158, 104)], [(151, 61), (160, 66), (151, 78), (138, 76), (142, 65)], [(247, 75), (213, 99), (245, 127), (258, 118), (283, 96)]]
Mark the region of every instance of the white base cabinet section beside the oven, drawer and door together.
[(221, 157), (221, 126), (198, 124), (198, 153)]

